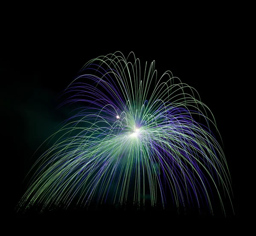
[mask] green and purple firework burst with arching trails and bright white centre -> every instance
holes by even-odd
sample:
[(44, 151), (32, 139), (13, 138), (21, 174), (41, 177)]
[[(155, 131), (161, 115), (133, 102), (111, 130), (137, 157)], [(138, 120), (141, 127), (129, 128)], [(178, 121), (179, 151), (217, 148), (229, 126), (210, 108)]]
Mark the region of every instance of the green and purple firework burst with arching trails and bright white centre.
[[(133, 53), (90, 60), (63, 92), (75, 114), (47, 139), (19, 208), (71, 203), (177, 209), (231, 199), (230, 174), (209, 108), (194, 88)], [(216, 194), (215, 194), (216, 193)], [(230, 200), (231, 203), (231, 200)]]

